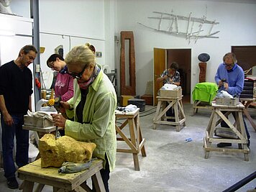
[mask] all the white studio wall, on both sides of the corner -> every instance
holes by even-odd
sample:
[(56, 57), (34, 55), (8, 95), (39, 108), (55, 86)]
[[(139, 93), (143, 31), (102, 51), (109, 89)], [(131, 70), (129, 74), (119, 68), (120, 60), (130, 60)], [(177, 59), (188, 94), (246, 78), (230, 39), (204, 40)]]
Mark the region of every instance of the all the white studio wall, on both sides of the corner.
[[(137, 95), (145, 93), (147, 81), (152, 81), (153, 47), (191, 48), (191, 90), (198, 83), (198, 55), (207, 52), (206, 81), (214, 81), (216, 67), (224, 53), (232, 45), (256, 45), (256, 4), (238, 4), (221, 1), (188, 0), (39, 0), (40, 1), (40, 46), (46, 47), (40, 56), (43, 70), (50, 70), (45, 62), (54, 48), (64, 46), (64, 55), (74, 45), (91, 42), (97, 51), (103, 52), (98, 63), (117, 68), (119, 72), (120, 43), (114, 35), (121, 31), (134, 32), (136, 59)], [(238, 0), (237, 0), (238, 1)], [(12, 11), (29, 17), (29, 0), (12, 0)], [(207, 9), (206, 9), (207, 6)], [(219, 22), (213, 31), (219, 30), (219, 39), (201, 39), (188, 44), (183, 37), (154, 32), (137, 22), (155, 27), (150, 21), (152, 12), (171, 12), (192, 17), (203, 17)], [(207, 14), (206, 14), (207, 13)], [(185, 24), (183, 24), (184, 27)], [(182, 26), (180, 26), (182, 27)], [(196, 28), (195, 28), (196, 29)], [(47, 34), (50, 33), (50, 34)], [(55, 34), (55, 35), (54, 35)]]

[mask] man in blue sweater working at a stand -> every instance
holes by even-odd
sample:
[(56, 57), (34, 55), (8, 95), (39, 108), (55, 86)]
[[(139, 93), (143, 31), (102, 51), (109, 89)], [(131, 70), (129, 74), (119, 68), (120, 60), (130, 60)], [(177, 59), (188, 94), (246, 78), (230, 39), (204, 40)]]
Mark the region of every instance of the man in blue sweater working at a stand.
[[(223, 63), (219, 64), (215, 81), (219, 85), (219, 91), (227, 91), (232, 96), (239, 96), (244, 88), (244, 70), (237, 65), (237, 58), (233, 52), (228, 52), (223, 57)], [(221, 127), (229, 127), (226, 122), (221, 122)], [(247, 130), (247, 125), (244, 122), (244, 127), (247, 133), (248, 146), (250, 145), (250, 134)], [(218, 147), (232, 146), (232, 143), (220, 142)]]

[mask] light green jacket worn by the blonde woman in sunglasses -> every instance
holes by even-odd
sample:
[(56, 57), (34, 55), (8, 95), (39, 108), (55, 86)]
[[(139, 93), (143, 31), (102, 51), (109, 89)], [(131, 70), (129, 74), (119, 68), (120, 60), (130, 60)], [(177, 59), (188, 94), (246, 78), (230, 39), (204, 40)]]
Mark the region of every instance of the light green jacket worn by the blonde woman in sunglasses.
[[(101, 68), (100, 65), (98, 65)], [(99, 75), (88, 88), (86, 104), (83, 108), (83, 124), (77, 122), (76, 107), (81, 101), (81, 91), (77, 81), (74, 81), (74, 96), (68, 103), (72, 111), (67, 110), (67, 116), (74, 122), (65, 122), (65, 135), (73, 137), (75, 140), (83, 142), (94, 142), (96, 149), (93, 157), (104, 160), (105, 153), (109, 160), (110, 171), (114, 170), (116, 163), (116, 129), (115, 129), (115, 109), (116, 92), (109, 78), (100, 70)]]

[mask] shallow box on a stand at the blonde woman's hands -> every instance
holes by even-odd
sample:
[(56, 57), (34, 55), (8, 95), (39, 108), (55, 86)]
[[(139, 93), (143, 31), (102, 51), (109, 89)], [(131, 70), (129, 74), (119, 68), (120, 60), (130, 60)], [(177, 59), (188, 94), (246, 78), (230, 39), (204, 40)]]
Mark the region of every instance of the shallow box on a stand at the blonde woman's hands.
[(28, 116), (24, 115), (24, 125), (33, 126), (33, 127), (52, 127), (53, 122), (45, 117), (35, 117), (35, 116)]

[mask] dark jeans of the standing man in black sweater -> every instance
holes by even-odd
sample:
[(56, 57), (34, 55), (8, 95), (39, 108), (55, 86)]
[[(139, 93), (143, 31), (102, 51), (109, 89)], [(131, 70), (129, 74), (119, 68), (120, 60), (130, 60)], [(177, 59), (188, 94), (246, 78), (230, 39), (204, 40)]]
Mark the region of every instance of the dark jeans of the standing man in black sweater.
[(14, 165), (13, 149), (14, 135), (16, 137), (16, 164), (20, 168), (27, 165), (29, 159), (29, 131), (22, 129), (24, 124), (24, 115), (12, 115), (14, 124), (10, 127), (4, 123), (4, 117), (1, 114), (1, 144), (3, 148), (4, 176), (14, 178), (16, 168)]

